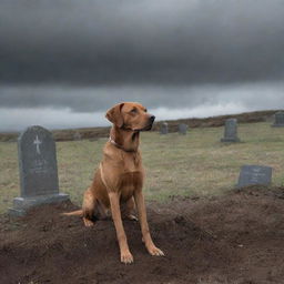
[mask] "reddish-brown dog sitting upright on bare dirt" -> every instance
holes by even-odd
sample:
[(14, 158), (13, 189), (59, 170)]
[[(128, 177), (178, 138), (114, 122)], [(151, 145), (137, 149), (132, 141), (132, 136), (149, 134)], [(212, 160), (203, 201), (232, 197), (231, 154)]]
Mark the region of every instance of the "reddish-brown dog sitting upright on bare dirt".
[(142, 192), (144, 169), (139, 150), (140, 131), (151, 130), (155, 116), (149, 114), (142, 104), (133, 102), (114, 105), (105, 116), (113, 126), (103, 149), (102, 162), (92, 185), (84, 193), (82, 210), (67, 214), (82, 214), (85, 226), (91, 226), (111, 209), (121, 262), (128, 264), (133, 262), (133, 256), (123, 229), (120, 205), (124, 205), (124, 215), (131, 220), (135, 219), (133, 211), (136, 205), (142, 241), (148, 252), (151, 255), (164, 255), (154, 245), (149, 231)]

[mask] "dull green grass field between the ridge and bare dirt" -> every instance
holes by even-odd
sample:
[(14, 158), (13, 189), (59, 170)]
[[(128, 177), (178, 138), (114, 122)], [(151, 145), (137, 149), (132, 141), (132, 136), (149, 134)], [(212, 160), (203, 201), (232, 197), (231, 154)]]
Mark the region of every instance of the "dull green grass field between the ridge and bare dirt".
[[(273, 184), (284, 184), (284, 129), (271, 123), (240, 124), (242, 143), (220, 142), (223, 128), (197, 128), (187, 135), (142, 133), (145, 196), (166, 202), (171, 195), (215, 195), (233, 189), (243, 164), (270, 165)], [(106, 139), (57, 142), (60, 190), (81, 204)], [(17, 143), (0, 143), (0, 214), (19, 195)]]

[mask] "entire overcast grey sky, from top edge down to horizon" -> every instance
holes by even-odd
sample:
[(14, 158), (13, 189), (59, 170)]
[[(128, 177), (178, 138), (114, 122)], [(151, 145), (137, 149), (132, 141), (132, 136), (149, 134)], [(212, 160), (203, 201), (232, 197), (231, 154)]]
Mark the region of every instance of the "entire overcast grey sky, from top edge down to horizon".
[(283, 0), (1, 0), (0, 131), (283, 109)]

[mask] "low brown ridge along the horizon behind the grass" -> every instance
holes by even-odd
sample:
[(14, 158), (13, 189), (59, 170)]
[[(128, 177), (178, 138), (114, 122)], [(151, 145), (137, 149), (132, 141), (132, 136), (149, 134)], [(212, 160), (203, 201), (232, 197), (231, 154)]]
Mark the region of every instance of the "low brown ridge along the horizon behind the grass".
[[(273, 121), (273, 115), (280, 110), (270, 111), (255, 111), (244, 112), (240, 114), (227, 114), (211, 116), (205, 119), (181, 119), (181, 120), (166, 120), (169, 125), (169, 132), (176, 132), (180, 123), (185, 123), (189, 128), (216, 128), (224, 125), (226, 119), (235, 118), (239, 123), (253, 123), (263, 121)], [(159, 131), (161, 123), (164, 121), (158, 121), (153, 125), (152, 131)], [(72, 141), (81, 139), (97, 140), (99, 138), (106, 138), (109, 135), (110, 128), (81, 128), (81, 129), (64, 129), (53, 130), (52, 134), (55, 141)], [(18, 132), (0, 133), (0, 142), (12, 142), (18, 138)]]

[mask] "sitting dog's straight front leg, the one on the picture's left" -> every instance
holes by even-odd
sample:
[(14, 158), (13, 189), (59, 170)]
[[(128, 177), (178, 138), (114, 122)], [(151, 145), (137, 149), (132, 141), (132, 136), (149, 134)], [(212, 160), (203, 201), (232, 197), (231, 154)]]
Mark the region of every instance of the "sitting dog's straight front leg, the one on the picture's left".
[(115, 192), (110, 192), (109, 197), (111, 203), (112, 220), (114, 222), (116, 236), (120, 245), (121, 262), (129, 264), (133, 262), (133, 256), (129, 251), (128, 240), (122, 224), (120, 212), (120, 196)]

